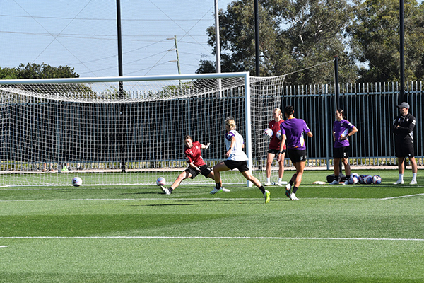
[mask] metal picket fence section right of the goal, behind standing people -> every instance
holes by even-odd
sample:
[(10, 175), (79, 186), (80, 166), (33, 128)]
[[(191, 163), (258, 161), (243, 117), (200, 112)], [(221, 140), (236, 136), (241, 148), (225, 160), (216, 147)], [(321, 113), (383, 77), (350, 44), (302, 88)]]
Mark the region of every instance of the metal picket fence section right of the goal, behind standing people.
[[(306, 138), (307, 166), (332, 166), (332, 126), (336, 108), (346, 112), (347, 120), (358, 128), (351, 137), (351, 163), (358, 166), (395, 165), (394, 134), (391, 124), (399, 115), (398, 83), (361, 83), (340, 85), (340, 104), (336, 106), (332, 85), (285, 86), (281, 108), (293, 105), (295, 117), (307, 122), (314, 137)], [(418, 164), (423, 165), (422, 81), (408, 82), (405, 99), (416, 117), (413, 131)]]

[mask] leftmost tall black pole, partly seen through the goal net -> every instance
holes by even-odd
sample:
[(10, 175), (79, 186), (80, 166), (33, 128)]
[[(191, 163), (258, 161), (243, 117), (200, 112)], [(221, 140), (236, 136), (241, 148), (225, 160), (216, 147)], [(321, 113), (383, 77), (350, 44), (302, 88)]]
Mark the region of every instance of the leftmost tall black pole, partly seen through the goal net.
[[(118, 28), (118, 75), (122, 76), (122, 33), (121, 33), (121, 1), (117, 0), (117, 28)], [(124, 83), (119, 81), (119, 99), (124, 98)], [(119, 141), (121, 148), (121, 171), (125, 172), (125, 136), (126, 136), (126, 120), (125, 105), (119, 103)]]

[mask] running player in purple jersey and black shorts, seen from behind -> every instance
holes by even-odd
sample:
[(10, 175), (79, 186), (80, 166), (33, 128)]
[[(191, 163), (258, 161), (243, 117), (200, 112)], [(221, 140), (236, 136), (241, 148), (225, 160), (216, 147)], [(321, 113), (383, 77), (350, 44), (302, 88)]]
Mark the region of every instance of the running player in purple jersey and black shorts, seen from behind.
[[(302, 182), (302, 175), (306, 164), (306, 147), (303, 134), (312, 137), (312, 132), (307, 127), (306, 122), (302, 119), (294, 117), (295, 111), (293, 106), (285, 106), (284, 115), (285, 121), (281, 123), (281, 145), (280, 152), (278, 152), (278, 160), (281, 159), (283, 152), (281, 149), (287, 146), (288, 157), (296, 168), (296, 173), (293, 174), (290, 182), (285, 186), (285, 195), (290, 200), (299, 200), (296, 197), (296, 192)], [(290, 193), (290, 190), (292, 189)]]

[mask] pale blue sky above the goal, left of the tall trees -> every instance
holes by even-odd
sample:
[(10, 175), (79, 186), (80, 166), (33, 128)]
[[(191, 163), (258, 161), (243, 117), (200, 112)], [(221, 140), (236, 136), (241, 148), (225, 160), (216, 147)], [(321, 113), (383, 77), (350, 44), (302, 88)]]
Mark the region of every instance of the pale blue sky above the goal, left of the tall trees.
[[(226, 9), (232, 0), (218, 1)], [(215, 60), (206, 28), (214, 0), (121, 0), (124, 76), (193, 74)], [(115, 0), (0, 0), (0, 67), (68, 65), (81, 77), (117, 76)]]

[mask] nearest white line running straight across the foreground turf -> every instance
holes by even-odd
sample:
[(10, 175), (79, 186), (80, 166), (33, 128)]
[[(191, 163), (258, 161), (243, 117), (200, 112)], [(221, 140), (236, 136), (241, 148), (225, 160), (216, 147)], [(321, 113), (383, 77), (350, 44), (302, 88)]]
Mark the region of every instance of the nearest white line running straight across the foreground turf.
[[(318, 237), (172, 237), (172, 236), (83, 236), (83, 237), (0, 237), (0, 240), (9, 239), (187, 239), (187, 240), (319, 240), (319, 241), (424, 241), (424, 238), (318, 238)], [(0, 246), (1, 247), (1, 246)], [(6, 246), (3, 246), (6, 247)]]

